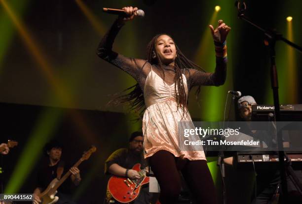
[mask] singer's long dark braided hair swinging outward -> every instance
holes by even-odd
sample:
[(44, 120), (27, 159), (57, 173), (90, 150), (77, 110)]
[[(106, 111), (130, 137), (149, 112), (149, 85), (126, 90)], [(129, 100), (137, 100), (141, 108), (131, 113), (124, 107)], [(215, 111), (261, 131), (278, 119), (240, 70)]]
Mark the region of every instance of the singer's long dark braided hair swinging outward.
[[(164, 80), (165, 79), (165, 71), (163, 68), (164, 64), (158, 57), (158, 54), (155, 49), (156, 40), (161, 35), (168, 35), (169, 37), (171, 37), (171, 35), (166, 33), (160, 33), (155, 35), (148, 43), (146, 59), (152, 65), (156, 65), (157, 67), (159, 67), (159, 69), (163, 73), (163, 77), (164, 77), (163, 80)], [(171, 39), (173, 38), (171, 37)], [(185, 69), (188, 68), (195, 68), (204, 72), (206, 71), (202, 69), (200, 66), (198, 66), (197, 64), (195, 64), (194, 62), (192, 62), (191, 60), (189, 60), (188, 58), (186, 58), (186, 56), (181, 52), (181, 50), (178, 48), (175, 42), (174, 44), (177, 53), (177, 57), (175, 58), (175, 62), (174, 62), (174, 67), (176, 71), (174, 77), (174, 83), (175, 83), (174, 88), (176, 92), (176, 87), (178, 87), (178, 94), (176, 94), (177, 107), (178, 108), (181, 107), (184, 110), (184, 108), (188, 107), (188, 102), (187, 102), (188, 96), (186, 95), (182, 74), (184, 73)], [(155, 53), (155, 58), (153, 58), (154, 53)], [(146, 63), (144, 64), (144, 66), (146, 65)], [(115, 99), (111, 100), (109, 104), (113, 103), (115, 105), (120, 105), (123, 103), (128, 103), (130, 105), (130, 111), (134, 111), (136, 114), (139, 114), (139, 116), (142, 117), (146, 109), (143, 91), (139, 86), (139, 84), (137, 83), (136, 85), (123, 90), (121, 93), (127, 92), (129, 90), (131, 90), (129, 93), (116, 97)], [(200, 92), (200, 86), (196, 90), (195, 93), (196, 98), (198, 97), (199, 92)]]

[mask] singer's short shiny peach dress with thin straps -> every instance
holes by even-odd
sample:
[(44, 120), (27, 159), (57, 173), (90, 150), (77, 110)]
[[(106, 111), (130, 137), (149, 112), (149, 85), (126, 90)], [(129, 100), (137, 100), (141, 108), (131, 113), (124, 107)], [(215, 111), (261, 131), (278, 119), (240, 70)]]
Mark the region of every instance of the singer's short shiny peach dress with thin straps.
[[(188, 95), (186, 76), (182, 76)], [(177, 108), (174, 86), (165, 83), (151, 68), (144, 87), (147, 107), (143, 117), (145, 158), (159, 150), (167, 150), (176, 157), (183, 155), (189, 160), (205, 160), (202, 150), (188, 151), (179, 146), (183, 140), (178, 134), (178, 125), (182, 125), (179, 121), (191, 121), (191, 117), (188, 111), (184, 115), (183, 109)]]

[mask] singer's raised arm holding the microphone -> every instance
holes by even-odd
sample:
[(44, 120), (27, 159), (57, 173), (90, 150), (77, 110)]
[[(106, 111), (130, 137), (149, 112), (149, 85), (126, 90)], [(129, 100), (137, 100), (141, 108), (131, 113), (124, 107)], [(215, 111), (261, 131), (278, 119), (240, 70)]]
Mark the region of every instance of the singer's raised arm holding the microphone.
[(125, 7), (123, 9), (126, 11), (126, 14), (128, 14), (129, 17), (119, 17), (114, 21), (112, 27), (105, 34), (98, 46), (97, 55), (100, 58), (117, 66), (118, 68), (124, 70), (132, 77), (134, 77), (134, 79), (138, 80), (139, 76), (143, 74), (142, 68), (147, 63), (147, 61), (144, 59), (127, 58), (112, 50), (113, 42), (118, 31), (122, 26), (124, 26), (126, 21), (132, 20), (134, 16), (136, 16), (135, 11), (137, 10), (137, 8)]

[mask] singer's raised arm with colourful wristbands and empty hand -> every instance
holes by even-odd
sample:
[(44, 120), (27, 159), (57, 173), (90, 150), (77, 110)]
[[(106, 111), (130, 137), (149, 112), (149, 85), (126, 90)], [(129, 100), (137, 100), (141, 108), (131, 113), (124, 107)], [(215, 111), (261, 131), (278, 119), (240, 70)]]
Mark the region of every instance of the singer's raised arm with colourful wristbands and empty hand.
[(214, 38), (216, 53), (216, 68), (214, 73), (202, 72), (196, 69), (189, 69), (189, 86), (220, 86), (223, 85), (227, 77), (227, 44), (226, 37), (230, 28), (219, 21), (216, 29), (210, 25)]

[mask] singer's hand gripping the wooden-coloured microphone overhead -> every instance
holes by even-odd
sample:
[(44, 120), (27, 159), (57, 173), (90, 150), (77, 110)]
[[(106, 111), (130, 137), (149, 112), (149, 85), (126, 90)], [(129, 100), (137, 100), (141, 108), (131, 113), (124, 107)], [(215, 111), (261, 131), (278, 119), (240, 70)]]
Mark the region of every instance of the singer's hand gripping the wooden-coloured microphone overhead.
[(135, 16), (145, 16), (143, 10), (139, 10), (137, 7), (133, 8), (132, 6), (123, 7), (122, 9), (103, 8), (103, 11), (110, 14), (117, 14), (118, 18), (124, 22), (132, 20)]

